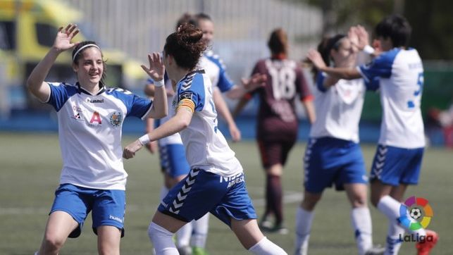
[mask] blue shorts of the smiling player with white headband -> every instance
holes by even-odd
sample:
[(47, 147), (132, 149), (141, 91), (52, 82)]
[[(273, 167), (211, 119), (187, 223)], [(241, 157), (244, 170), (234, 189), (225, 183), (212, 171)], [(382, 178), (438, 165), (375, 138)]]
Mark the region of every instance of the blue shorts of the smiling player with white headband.
[[(55, 200), (50, 213), (64, 211), (74, 218), (79, 227), (70, 233), (75, 238), (82, 232), (83, 223), (90, 211), (93, 219), (93, 232), (101, 225), (114, 226), (124, 236), (124, 215), (126, 209), (125, 191), (119, 189), (89, 189), (70, 184), (62, 184), (55, 191)], [(49, 213), (49, 214), (50, 214)]]

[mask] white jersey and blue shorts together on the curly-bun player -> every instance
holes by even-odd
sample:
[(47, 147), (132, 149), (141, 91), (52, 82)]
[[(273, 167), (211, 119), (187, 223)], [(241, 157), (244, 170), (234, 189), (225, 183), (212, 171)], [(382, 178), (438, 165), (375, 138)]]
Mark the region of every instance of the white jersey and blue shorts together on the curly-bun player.
[(177, 84), (170, 114), (174, 116), (178, 106), (193, 107), (194, 111), (190, 124), (180, 131), (191, 170), (170, 189), (158, 210), (185, 222), (208, 212), (227, 225), (231, 218), (256, 218), (242, 166), (217, 128), (213, 88), (203, 73), (188, 73)]

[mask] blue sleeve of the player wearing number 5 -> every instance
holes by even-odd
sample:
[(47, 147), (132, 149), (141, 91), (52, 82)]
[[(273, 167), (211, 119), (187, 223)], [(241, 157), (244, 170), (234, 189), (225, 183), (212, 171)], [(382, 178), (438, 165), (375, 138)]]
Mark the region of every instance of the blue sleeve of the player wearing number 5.
[(392, 75), (392, 66), (399, 49), (384, 52), (371, 63), (359, 66), (359, 72), (366, 83), (372, 83), (377, 77), (388, 78)]

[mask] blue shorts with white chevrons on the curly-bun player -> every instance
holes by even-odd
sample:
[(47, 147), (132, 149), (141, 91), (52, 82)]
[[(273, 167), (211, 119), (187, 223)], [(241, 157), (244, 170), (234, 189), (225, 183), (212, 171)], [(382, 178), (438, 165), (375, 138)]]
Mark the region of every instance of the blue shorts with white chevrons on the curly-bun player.
[(198, 168), (170, 189), (158, 210), (187, 223), (208, 212), (229, 226), (231, 218), (256, 219), (244, 173), (223, 178)]

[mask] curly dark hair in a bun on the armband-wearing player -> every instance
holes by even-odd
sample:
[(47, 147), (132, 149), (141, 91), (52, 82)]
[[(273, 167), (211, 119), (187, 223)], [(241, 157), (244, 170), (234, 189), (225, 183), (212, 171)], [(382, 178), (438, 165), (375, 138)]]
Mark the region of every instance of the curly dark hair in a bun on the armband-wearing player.
[(202, 37), (203, 31), (199, 28), (188, 23), (182, 24), (178, 31), (168, 35), (163, 54), (173, 56), (181, 68), (193, 70), (206, 50), (206, 41)]

